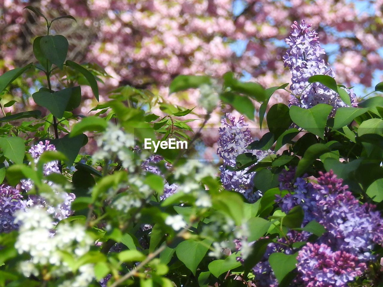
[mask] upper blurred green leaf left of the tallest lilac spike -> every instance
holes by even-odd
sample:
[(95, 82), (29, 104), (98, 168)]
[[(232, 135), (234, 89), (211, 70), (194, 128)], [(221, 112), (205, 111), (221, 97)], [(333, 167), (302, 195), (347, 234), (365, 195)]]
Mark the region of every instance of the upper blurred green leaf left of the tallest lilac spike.
[(259, 102), (263, 102), (266, 99), (265, 89), (259, 83), (241, 82), (234, 78), (234, 74), (232, 72), (225, 73), (223, 75), (223, 80), (224, 86), (230, 87), (232, 91), (236, 91), (244, 95), (250, 96), (250, 98), (253, 98)]

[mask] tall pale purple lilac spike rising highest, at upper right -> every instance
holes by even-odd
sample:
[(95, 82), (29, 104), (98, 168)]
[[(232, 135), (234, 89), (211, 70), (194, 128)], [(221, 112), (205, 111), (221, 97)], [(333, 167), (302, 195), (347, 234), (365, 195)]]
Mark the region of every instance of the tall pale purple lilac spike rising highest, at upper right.
[[(329, 75), (335, 77), (332, 68), (328, 68), (321, 55), (326, 54), (318, 41), (318, 34), (315, 30), (309, 29), (311, 24), (306, 24), (304, 20), (298, 24), (294, 21), (291, 25), (292, 31), (286, 44), (290, 47), (283, 56), (285, 67), (291, 71), (292, 85), (290, 89), (292, 95), (290, 104), (301, 108), (311, 108), (316, 104), (330, 104), (335, 109), (347, 106), (339, 95), (322, 85), (321, 83), (309, 84), (308, 78), (313, 75)], [(356, 103), (356, 96), (352, 90), (345, 89), (350, 96), (351, 103)]]

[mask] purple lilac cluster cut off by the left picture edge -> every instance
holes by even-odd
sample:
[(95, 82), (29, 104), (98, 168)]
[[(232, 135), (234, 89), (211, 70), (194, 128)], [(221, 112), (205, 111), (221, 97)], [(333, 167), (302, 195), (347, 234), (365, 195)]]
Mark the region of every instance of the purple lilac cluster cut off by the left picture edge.
[(0, 233), (18, 228), (15, 212), (25, 209), (26, 203), (17, 189), (2, 184), (0, 186)]

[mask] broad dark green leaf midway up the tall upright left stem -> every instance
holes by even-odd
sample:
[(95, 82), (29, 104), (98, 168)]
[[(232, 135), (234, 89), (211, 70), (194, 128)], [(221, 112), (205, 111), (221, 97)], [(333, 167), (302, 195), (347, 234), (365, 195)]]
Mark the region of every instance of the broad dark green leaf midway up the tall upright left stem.
[(64, 111), (67, 107), (71, 94), (72, 88), (67, 88), (55, 93), (50, 93), (44, 88), (41, 88), (38, 92), (32, 95), (32, 98), (36, 104), (47, 108), (53, 116), (60, 119), (64, 116)]

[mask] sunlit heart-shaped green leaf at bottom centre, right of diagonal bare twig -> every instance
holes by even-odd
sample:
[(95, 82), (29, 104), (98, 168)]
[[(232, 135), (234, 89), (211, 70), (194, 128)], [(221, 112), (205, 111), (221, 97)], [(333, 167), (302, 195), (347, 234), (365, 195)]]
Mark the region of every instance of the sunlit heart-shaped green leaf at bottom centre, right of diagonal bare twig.
[(177, 245), (175, 253), (178, 259), (195, 275), (198, 264), (205, 257), (211, 243), (212, 241), (209, 239), (203, 241), (185, 240)]

